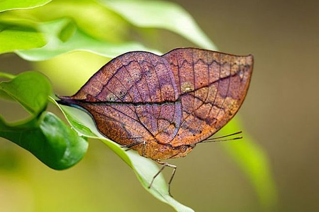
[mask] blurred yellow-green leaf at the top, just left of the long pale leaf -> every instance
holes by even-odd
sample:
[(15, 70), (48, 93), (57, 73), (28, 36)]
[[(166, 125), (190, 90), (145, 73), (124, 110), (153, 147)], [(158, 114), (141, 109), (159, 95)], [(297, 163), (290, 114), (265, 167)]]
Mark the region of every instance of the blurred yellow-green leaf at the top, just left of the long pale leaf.
[(38, 22), (70, 17), (83, 32), (96, 39), (113, 43), (131, 40), (128, 22), (94, 0), (54, 0), (44, 7), (13, 11), (10, 15), (32, 17)]

